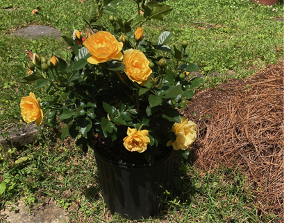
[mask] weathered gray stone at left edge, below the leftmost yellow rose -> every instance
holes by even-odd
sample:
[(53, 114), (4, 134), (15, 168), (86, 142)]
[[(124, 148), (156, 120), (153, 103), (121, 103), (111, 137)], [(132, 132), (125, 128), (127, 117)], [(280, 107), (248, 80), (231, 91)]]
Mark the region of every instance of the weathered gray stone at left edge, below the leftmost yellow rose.
[[(19, 129), (19, 127), (12, 127), (8, 130), (0, 130), (0, 144), (3, 148), (8, 149), (33, 143), (37, 138), (37, 134), (40, 133), (36, 127), (37, 125), (35, 123), (31, 123), (21, 129)], [(10, 132), (10, 136), (8, 136), (9, 139), (1, 136), (1, 134), (5, 134), (6, 132)]]

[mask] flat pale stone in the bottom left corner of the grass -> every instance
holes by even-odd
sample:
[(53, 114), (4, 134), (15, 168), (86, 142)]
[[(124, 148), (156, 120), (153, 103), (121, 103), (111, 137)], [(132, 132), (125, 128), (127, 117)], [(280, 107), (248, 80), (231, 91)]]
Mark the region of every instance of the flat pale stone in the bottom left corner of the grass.
[[(11, 208), (13, 211), (9, 211)], [(24, 202), (20, 201), (17, 206), (10, 206), (1, 214), (6, 215), (5, 218), (10, 223), (67, 223), (69, 221), (67, 211), (53, 204), (46, 204), (29, 211), (29, 208), (24, 206)]]

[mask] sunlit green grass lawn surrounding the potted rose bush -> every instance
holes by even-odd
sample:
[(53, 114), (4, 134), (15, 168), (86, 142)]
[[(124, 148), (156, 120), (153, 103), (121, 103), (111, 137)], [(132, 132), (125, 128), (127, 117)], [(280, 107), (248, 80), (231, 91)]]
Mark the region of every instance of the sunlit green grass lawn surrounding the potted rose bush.
[[(34, 92), (44, 101), (44, 88), (19, 82), (29, 62), (26, 51), (50, 58), (71, 57), (63, 39), (40, 37), (23, 39), (10, 36), (18, 28), (40, 24), (57, 28), (62, 35), (87, 30), (82, 17), (94, 1), (10, 1), (0, 0), (0, 128), (22, 123), (19, 101)], [(247, 78), (266, 64), (283, 60), (284, 4), (267, 7), (247, 0), (163, 1), (174, 10), (164, 21), (144, 26), (147, 39), (157, 39), (163, 31), (174, 34), (170, 47), (183, 39), (189, 43), (190, 60), (205, 76), (201, 89), (215, 87), (227, 78)], [(38, 8), (38, 14), (32, 11)], [(116, 17), (130, 18), (134, 1), (119, 1)], [(110, 24), (108, 16), (103, 20)], [(217, 76), (213, 74), (218, 74)], [(47, 111), (44, 111), (45, 117)], [(0, 197), (1, 208), (19, 197), (29, 206), (52, 197), (66, 208), (74, 222), (125, 222), (110, 217), (103, 204), (97, 167), (92, 152), (83, 154), (74, 141), (61, 143), (51, 123), (45, 123), (33, 145), (12, 153), (25, 161), (0, 161), (0, 181), (9, 179)], [(55, 181), (54, 181), (55, 179)], [(79, 179), (79, 180), (78, 180)], [(262, 215), (251, 187), (242, 172), (222, 168), (200, 172), (192, 163), (176, 158), (173, 188), (165, 192), (165, 211), (145, 222), (269, 222), (274, 215)]]

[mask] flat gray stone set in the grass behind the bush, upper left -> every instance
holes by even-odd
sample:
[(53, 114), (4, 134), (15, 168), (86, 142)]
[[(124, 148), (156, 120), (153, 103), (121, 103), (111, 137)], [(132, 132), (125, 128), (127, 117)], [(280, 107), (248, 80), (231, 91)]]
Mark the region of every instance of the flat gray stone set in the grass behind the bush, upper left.
[(19, 35), (26, 38), (41, 37), (41, 36), (52, 36), (58, 38), (61, 33), (53, 27), (50, 26), (28, 26), (26, 28), (15, 30), (14, 33), (10, 35)]

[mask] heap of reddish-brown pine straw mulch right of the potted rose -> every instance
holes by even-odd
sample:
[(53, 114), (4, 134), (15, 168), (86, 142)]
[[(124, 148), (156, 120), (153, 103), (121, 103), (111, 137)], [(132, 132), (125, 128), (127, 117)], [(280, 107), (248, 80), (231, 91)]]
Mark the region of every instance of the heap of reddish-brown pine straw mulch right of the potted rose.
[(284, 217), (284, 62), (199, 91), (182, 113), (199, 130), (195, 165), (240, 168), (262, 212)]

